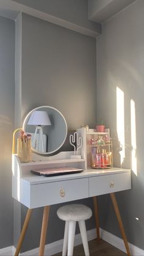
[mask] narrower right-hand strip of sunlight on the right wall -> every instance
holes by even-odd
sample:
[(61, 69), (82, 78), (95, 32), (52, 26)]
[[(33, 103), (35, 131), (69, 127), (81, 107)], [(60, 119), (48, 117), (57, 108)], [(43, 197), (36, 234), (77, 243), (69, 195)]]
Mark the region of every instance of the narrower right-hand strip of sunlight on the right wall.
[(136, 122), (135, 122), (135, 102), (131, 99), (131, 169), (137, 175), (137, 142), (136, 142)]

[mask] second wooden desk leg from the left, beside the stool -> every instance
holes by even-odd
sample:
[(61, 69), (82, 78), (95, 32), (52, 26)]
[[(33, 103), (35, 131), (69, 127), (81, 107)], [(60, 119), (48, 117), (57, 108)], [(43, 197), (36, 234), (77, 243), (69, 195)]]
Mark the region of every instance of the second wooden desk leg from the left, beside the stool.
[(48, 227), (48, 218), (49, 218), (49, 205), (44, 207), (43, 210), (43, 222), (41, 226), (41, 237), (40, 237), (40, 249), (39, 256), (43, 256), (45, 251), (45, 241), (46, 241), (46, 232)]

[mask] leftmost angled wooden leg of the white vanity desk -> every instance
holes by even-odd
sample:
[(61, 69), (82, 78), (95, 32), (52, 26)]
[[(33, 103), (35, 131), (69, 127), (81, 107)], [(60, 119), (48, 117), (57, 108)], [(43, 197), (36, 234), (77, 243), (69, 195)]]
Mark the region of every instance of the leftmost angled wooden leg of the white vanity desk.
[(21, 235), (20, 235), (20, 238), (19, 238), (19, 241), (18, 241), (18, 245), (16, 247), (15, 256), (18, 256), (18, 254), (20, 253), (21, 245), (22, 245), (23, 240), (24, 240), (24, 235), (26, 233), (27, 226), (28, 226), (29, 220), (31, 218), (31, 214), (32, 214), (32, 209), (28, 209), (27, 214), (26, 214), (26, 218), (24, 220), (23, 229), (21, 230)]

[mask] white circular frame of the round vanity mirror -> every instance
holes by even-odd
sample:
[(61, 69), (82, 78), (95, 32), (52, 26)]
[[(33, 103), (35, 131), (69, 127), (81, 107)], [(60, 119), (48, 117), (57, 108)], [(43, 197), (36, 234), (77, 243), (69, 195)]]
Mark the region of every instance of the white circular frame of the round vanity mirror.
[[(59, 114), (62, 116), (63, 121), (65, 122), (65, 126), (66, 126), (65, 138), (63, 139), (62, 144), (60, 144), (60, 146), (59, 146), (58, 148), (56, 148), (56, 150), (53, 150), (53, 151), (51, 151), (51, 152), (40, 152), (40, 151), (38, 151), (38, 150), (35, 150), (35, 149), (32, 148), (32, 147), (31, 147), (31, 150), (32, 150), (32, 152), (35, 152), (35, 153), (37, 153), (38, 155), (43, 155), (43, 156), (44, 156), (44, 155), (46, 155), (46, 156), (48, 156), (48, 155), (54, 155), (54, 153), (57, 152), (57, 151), (62, 147), (62, 145), (65, 143), (65, 140), (66, 140), (67, 134), (68, 134), (67, 122), (66, 122), (65, 117), (63, 116), (63, 114), (62, 114), (58, 109), (53, 108), (53, 107), (51, 107), (51, 106), (40, 106), (40, 107), (37, 107), (37, 108), (32, 109), (32, 110), (26, 115), (26, 117), (25, 117), (25, 119), (24, 119), (24, 122), (23, 122), (23, 131), (26, 132), (26, 124), (27, 124), (27, 121), (28, 121), (30, 115), (32, 114), (32, 112), (37, 111), (38, 109), (41, 109), (41, 108), (51, 108), (51, 109), (53, 109), (54, 111), (59, 112)], [(57, 153), (56, 153), (56, 154), (57, 154)]]

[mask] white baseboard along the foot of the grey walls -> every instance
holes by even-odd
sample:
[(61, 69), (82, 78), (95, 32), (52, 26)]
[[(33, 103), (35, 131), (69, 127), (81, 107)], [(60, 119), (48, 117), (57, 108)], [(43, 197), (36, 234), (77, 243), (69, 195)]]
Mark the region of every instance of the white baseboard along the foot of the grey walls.
[[(123, 240), (121, 238), (118, 238), (118, 236), (112, 235), (112, 233), (107, 232), (106, 230), (100, 229), (100, 235), (101, 238), (106, 241), (109, 244), (112, 244), (113, 246), (117, 247), (123, 252), (126, 252), (126, 249), (124, 247)], [(96, 238), (96, 230), (91, 229), (87, 231), (87, 238), (88, 241), (93, 240)], [(63, 240), (55, 241), (51, 244), (46, 244), (45, 246), (45, 255), (51, 256), (54, 254), (57, 254), (59, 252), (62, 252), (62, 244)], [(75, 242), (74, 245), (77, 246), (79, 244), (82, 244), (81, 235), (77, 234), (75, 236)], [(144, 250), (140, 249), (137, 246), (134, 246), (133, 244), (129, 243), (129, 249), (131, 252), (131, 255), (133, 256), (143, 256)], [(20, 255), (21, 256), (37, 256), (38, 255), (39, 248), (35, 248), (31, 251), (23, 252)], [(3, 249), (0, 249), (0, 256), (12, 256), (14, 255), (15, 247), (9, 246)]]

